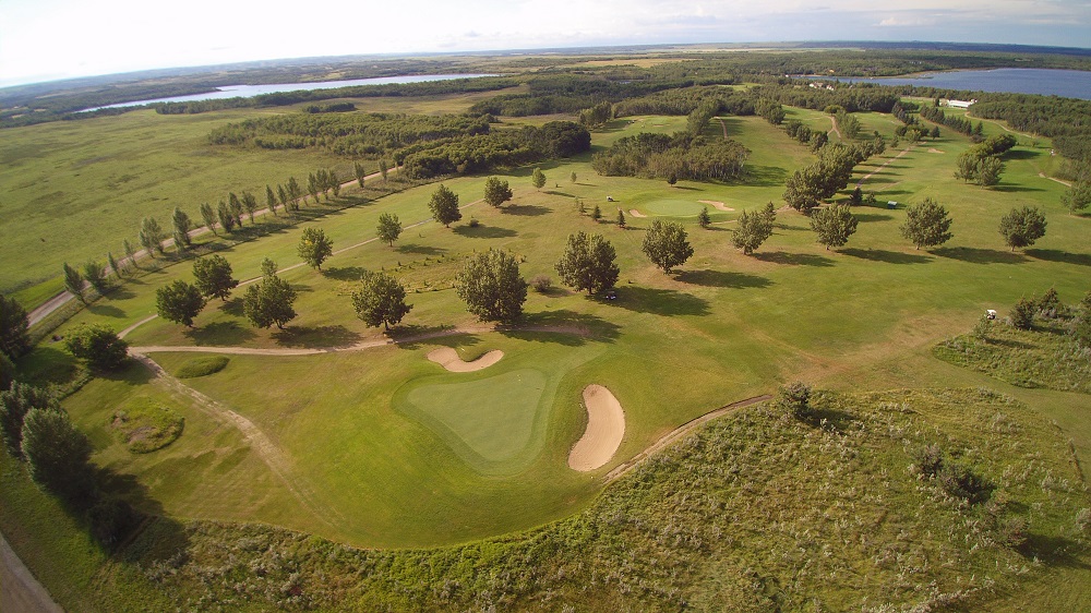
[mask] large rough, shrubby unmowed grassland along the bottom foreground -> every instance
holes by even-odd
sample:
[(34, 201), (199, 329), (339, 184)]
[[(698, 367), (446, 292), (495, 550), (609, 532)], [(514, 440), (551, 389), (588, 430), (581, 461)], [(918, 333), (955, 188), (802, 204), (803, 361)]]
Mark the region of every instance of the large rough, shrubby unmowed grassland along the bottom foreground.
[[(900, 611), (990, 609), (1084, 563), (1088, 493), (1028, 407), (944, 389), (816, 393), (812, 408), (808, 422), (774, 406), (711, 422), (530, 532), (383, 551), (199, 522), (141, 565), (181, 608)], [(986, 495), (928, 477), (927, 449)]]

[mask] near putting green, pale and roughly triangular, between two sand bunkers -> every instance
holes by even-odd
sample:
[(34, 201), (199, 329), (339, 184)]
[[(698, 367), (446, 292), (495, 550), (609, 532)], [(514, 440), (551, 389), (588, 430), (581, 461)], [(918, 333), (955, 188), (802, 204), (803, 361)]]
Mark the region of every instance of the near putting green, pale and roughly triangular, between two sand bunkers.
[(541, 371), (520, 369), (465, 383), (422, 385), (409, 392), (407, 408), (448, 443), (456, 441), (452, 447), (468, 464), (512, 468), (532, 459), (548, 380)]

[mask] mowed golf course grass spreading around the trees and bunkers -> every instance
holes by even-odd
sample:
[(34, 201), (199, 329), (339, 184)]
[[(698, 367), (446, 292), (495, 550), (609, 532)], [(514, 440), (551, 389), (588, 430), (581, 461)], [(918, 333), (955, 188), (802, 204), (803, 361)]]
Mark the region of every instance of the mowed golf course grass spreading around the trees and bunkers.
[[(822, 116), (813, 119), (818, 122)], [(886, 121), (890, 131), (896, 127), (888, 116), (865, 120), (876, 125)], [(901, 149), (888, 149), (854, 176), (859, 181), (894, 160), (867, 179), (864, 189), (882, 188), (883, 197), (903, 202), (932, 195), (948, 206), (956, 238), (944, 249), (916, 251), (900, 237), (903, 207), (861, 207), (854, 211), (860, 228), (841, 250), (822, 249), (814, 242), (807, 218), (788, 211), (779, 214), (769, 241), (748, 257), (730, 245), (730, 233), (722, 229), (738, 213), (710, 208), (719, 221), (714, 229), (702, 230), (692, 217), (680, 217), (695, 255), (678, 275), (664, 276), (640, 252), (651, 219), (631, 216), (628, 227), (621, 229), (608, 206), (627, 212), (631, 206), (688, 203), (692, 197), (694, 206), (699, 206), (699, 200), (712, 200), (738, 211), (755, 209), (769, 201), (779, 202), (783, 188), (778, 177), (811, 159), (804, 146), (759, 118), (727, 118), (726, 122), (729, 135), (753, 151), (755, 177), (750, 182), (683, 182), (671, 188), (666, 181), (606, 178), (595, 175), (589, 156), (583, 156), (542, 165), (548, 182), (540, 191), (529, 184), (530, 168), (504, 173), (515, 199), (503, 209), (476, 203), (484, 177), (445, 181), (460, 194), (461, 204), (469, 205), (463, 221), (452, 228), (431, 221), (408, 228), (394, 248), (367, 242), (374, 236), (380, 213), (396, 213), (407, 226), (428, 219), (427, 202), (434, 187), (417, 188), (308, 223), (326, 230), (335, 250), (352, 249), (334, 255), (322, 273), (305, 266), (283, 273), (300, 293), (300, 316), (288, 330), (254, 329), (235, 298), (212, 302), (193, 329), (154, 320), (129, 337), (134, 345), (268, 348), (344, 347), (375, 340), (382, 338), (380, 332), (355, 318), (349, 298), (364, 269), (393, 272), (413, 288), (409, 295), (413, 310), (404, 322), (403, 336), (470, 326), (476, 322), (449, 289), (467, 257), (489, 248), (507, 249), (524, 260), (525, 277), (541, 274), (555, 280), (553, 264), (568, 233), (603, 233), (618, 250), (622, 269), (616, 300), (599, 301), (562, 289), (532, 292), (526, 306), (529, 325), (578, 326), (587, 330), (586, 336), (473, 335), (475, 349), (500, 348), (507, 356), (481, 373), (460, 375), (459, 382), (529, 369), (546, 373), (544, 387), (556, 385), (552, 401), (539, 397), (528, 443), (519, 443), (517, 436), (490, 440), (489, 416), (503, 410), (503, 402), (479, 410), (472, 406), (472, 395), (464, 396), (454, 410), (466, 419), (453, 428), (455, 422), (444, 423), (436, 417), (453, 419), (443, 412), (443, 405), (407, 401), (420, 385), (459, 385), (452, 378), (455, 375), (423, 358), (427, 348), (447, 341), (300, 358), (240, 356), (232, 357), (220, 373), (189, 383), (254, 421), (292, 459), (296, 472), (313, 480), (331, 515), (345, 519), (335, 518), (332, 527), (324, 524), (290, 495), (285, 497), (283, 488), (276, 488), (276, 497), (262, 498), (256, 486), (254, 491), (247, 486), (254, 502), (237, 510), (189, 497), (154, 479), (152, 494), (161, 496), (165, 506), (179, 516), (252, 519), (355, 544), (403, 546), (506, 532), (586, 505), (598, 489), (598, 476), (709, 410), (771, 392), (794, 378), (838, 385), (866, 381), (872, 388), (940, 380), (950, 376), (950, 366), (928, 357), (931, 346), (968, 329), (985, 308), (1003, 308), (1048, 287), (1056, 287), (1062, 299), (1070, 302), (1088, 289), (1091, 254), (1080, 237), (1089, 220), (1067, 215), (1058, 203), (1063, 188), (1038, 177), (1040, 149), (1022, 153), (1019, 148), (1009, 154), (1000, 189), (984, 190), (951, 178), (954, 158), (969, 146), (969, 140), (950, 134), (936, 143), (903, 147), (909, 153), (897, 159)], [(716, 123), (709, 135), (720, 129)], [(609, 131), (596, 134), (596, 146), (649, 127), (670, 132), (682, 129), (684, 118), (615, 122)], [(928, 148), (945, 154), (928, 153)], [(572, 172), (577, 175), (575, 182), (570, 179)], [(616, 204), (608, 203), (608, 195)], [(353, 197), (353, 191), (344, 197)], [(591, 206), (602, 205), (603, 221), (582, 216), (576, 197)], [(1048, 232), (1034, 249), (1012, 253), (1003, 245), (996, 227), (1004, 212), (1026, 203), (1043, 207)], [(480, 224), (478, 228), (468, 226), (471, 217)], [(301, 228), (285, 230), (223, 253), (238, 278), (257, 276), (264, 256), (272, 256), (284, 269), (299, 262), (295, 247), (300, 232)], [(155, 312), (155, 288), (173, 279), (191, 280), (190, 268), (176, 265), (128, 284), (71, 324), (105, 322), (115, 329), (127, 327)], [(68, 329), (62, 327), (58, 334)], [(156, 358), (171, 370), (192, 354), (159, 353)], [(578, 392), (588, 383), (606, 385), (620, 399), (626, 411), (626, 437), (610, 464), (583, 476), (570, 471), (565, 458), (583, 432), (586, 417)], [(441, 389), (457, 388), (418, 394), (440, 398)], [(98, 406), (113, 394), (88, 386), (73, 406)], [(531, 392), (521, 394), (527, 395), (527, 402), (532, 400)], [(482, 393), (481, 397), (492, 396)], [(1051, 418), (1071, 424), (1077, 447), (1084, 448), (1091, 432), (1080, 429), (1079, 404), (1051, 399), (1046, 405), (1052, 407)], [(531, 409), (520, 406), (519, 410)], [(529, 419), (528, 414), (523, 417)], [(189, 419), (187, 433), (165, 452), (188, 440)], [(100, 453), (105, 460), (116, 450)], [(180, 458), (176, 468), (184, 470), (190, 461), (196, 459)], [(129, 470), (157, 474), (140, 464), (130, 465)], [(242, 477), (243, 482), (247, 479), (250, 476)], [(275, 481), (267, 473), (264, 479), (266, 484)], [(212, 483), (213, 490), (217, 483)]]

